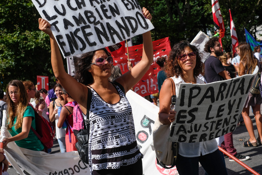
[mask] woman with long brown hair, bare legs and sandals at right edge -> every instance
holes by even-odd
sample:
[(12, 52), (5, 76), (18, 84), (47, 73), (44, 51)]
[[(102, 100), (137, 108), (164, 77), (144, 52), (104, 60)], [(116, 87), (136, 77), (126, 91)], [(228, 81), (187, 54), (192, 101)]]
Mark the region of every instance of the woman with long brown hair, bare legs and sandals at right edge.
[[(242, 76), (245, 74), (252, 74), (256, 66), (260, 68), (259, 61), (254, 57), (250, 45), (246, 42), (241, 42), (238, 45), (240, 51), (240, 63), (239, 66), (234, 65), (238, 71), (238, 75)], [(258, 70), (261, 72), (261, 70)], [(249, 92), (247, 101), (244, 105), (242, 115), (244, 118), (245, 126), (247, 128), (250, 139), (243, 143), (244, 147), (256, 147), (261, 145), (262, 140), (262, 116), (260, 112), (260, 105), (262, 103), (262, 98), (258, 90), (257, 94)], [(256, 119), (256, 127), (258, 129), (258, 138), (256, 139), (254, 134), (253, 122), (249, 117), (249, 108), (250, 106), (253, 109), (253, 113)]]

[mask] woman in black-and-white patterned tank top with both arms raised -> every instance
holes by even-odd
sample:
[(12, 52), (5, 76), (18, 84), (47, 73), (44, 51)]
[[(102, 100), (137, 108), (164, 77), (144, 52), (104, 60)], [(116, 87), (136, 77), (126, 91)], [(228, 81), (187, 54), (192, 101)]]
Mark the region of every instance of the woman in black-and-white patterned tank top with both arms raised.
[[(145, 18), (152, 16), (143, 8)], [(153, 62), (150, 31), (143, 34), (142, 59), (132, 70), (114, 80), (111, 76), (113, 59), (106, 49), (85, 53), (74, 58), (75, 78), (68, 75), (50, 23), (39, 19), (39, 29), (50, 36), (51, 62), (54, 75), (75, 99), (83, 114), (90, 118), (89, 166), (91, 174), (143, 174), (143, 155), (135, 137), (132, 108), (125, 97), (146, 73)], [(87, 113), (88, 88), (91, 89), (90, 111)]]

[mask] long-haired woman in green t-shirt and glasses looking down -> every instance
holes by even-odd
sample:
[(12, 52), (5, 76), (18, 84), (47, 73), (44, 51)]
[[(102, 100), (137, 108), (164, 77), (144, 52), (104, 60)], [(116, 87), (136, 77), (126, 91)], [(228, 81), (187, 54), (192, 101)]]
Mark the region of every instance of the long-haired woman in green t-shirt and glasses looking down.
[(28, 105), (28, 96), (24, 84), (19, 80), (12, 80), (8, 83), (6, 92), (9, 94), (6, 102), (7, 129), (12, 137), (3, 140), (4, 146), (15, 141), (19, 147), (43, 151), (43, 144), (30, 129), (32, 126), (36, 130), (35, 112)]

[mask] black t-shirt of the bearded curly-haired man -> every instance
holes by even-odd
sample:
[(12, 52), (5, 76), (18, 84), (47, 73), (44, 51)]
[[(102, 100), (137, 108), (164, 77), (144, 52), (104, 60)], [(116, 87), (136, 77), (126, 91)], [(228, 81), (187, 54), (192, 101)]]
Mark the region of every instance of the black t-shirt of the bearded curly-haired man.
[(214, 56), (208, 57), (205, 61), (205, 79), (207, 83), (212, 83), (215, 81), (225, 80), (219, 75), (220, 72), (224, 71), (221, 61)]

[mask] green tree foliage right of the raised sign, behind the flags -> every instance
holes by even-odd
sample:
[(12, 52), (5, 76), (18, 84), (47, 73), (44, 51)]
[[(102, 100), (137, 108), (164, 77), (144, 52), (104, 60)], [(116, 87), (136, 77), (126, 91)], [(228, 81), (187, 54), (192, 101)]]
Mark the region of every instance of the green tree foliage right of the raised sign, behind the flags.
[[(139, 3), (141, 7), (148, 8), (153, 16), (154, 40), (169, 36), (172, 45), (181, 40), (192, 41), (200, 30), (210, 36), (215, 34), (211, 0), (141, 0)], [(219, 0), (219, 4), (226, 28), (222, 44), (224, 50), (230, 51), (229, 8), (241, 42), (245, 41), (244, 28), (254, 36), (255, 32), (251, 30), (262, 25), (261, 0)]]

